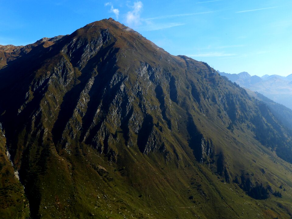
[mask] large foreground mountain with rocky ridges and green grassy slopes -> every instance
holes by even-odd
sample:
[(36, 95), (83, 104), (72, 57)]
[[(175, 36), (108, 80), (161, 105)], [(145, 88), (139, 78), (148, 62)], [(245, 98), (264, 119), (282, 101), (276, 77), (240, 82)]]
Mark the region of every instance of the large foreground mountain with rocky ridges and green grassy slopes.
[(6, 62), (0, 92), (4, 218), (292, 217), (290, 129), (113, 19)]

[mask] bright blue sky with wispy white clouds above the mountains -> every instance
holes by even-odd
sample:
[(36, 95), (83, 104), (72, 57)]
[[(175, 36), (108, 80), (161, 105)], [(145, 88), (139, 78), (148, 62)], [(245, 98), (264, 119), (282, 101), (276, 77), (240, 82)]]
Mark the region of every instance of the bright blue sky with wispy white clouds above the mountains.
[(219, 71), (292, 74), (291, 0), (0, 0), (0, 44), (26, 45), (112, 17)]

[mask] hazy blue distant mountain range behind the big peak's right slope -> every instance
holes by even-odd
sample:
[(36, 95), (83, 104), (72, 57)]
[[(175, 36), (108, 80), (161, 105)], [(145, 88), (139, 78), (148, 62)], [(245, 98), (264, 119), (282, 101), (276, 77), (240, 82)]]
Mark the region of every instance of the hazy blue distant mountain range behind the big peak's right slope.
[(259, 92), (269, 99), (292, 109), (292, 74), (287, 77), (280, 75), (264, 75), (259, 77), (256, 75), (251, 76), (245, 71), (239, 74), (217, 72), (241, 87)]

